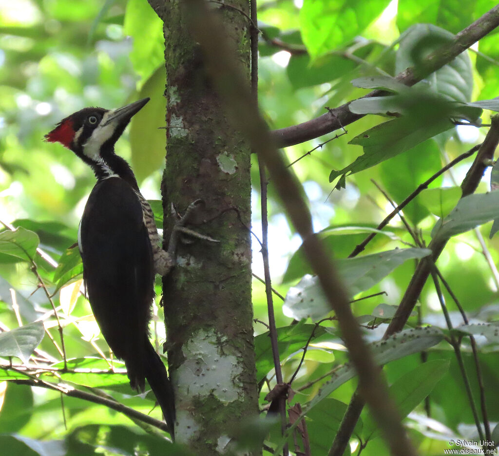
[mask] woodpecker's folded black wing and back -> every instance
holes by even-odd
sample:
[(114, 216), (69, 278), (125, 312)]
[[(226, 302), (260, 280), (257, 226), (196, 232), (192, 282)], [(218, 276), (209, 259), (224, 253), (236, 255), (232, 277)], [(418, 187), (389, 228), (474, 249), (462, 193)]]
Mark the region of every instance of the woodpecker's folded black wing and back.
[(80, 250), (88, 299), (102, 335), (143, 389), (144, 344), (154, 296), (153, 253), (140, 201), (118, 177), (98, 182), (81, 219)]

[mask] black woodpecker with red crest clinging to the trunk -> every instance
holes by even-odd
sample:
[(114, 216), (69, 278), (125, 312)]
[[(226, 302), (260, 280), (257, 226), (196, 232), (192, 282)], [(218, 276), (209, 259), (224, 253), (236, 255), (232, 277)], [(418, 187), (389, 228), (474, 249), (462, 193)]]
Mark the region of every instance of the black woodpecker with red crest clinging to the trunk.
[(114, 144), (149, 98), (116, 110), (85, 108), (61, 120), (46, 141), (88, 164), (97, 183), (78, 231), (83, 279), (102, 335), (127, 368), (132, 388), (149, 382), (174, 437), (175, 403), (165, 365), (149, 342), (156, 273), (173, 266), (161, 249), (151, 208)]

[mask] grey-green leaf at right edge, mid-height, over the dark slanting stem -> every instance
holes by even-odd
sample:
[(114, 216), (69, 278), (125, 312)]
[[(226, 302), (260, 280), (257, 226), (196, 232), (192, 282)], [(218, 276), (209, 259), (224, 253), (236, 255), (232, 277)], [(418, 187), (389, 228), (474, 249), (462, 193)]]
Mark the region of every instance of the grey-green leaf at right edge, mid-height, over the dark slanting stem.
[(499, 192), (468, 195), (432, 229), (433, 238), (449, 238), (499, 218)]

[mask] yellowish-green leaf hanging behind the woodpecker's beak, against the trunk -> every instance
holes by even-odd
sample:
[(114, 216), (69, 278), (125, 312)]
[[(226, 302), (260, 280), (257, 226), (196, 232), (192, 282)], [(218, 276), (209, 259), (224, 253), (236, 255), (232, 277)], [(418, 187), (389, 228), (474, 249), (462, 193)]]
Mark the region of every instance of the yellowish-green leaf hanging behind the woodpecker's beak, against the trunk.
[[(130, 123), (132, 167), (139, 182), (165, 167), (166, 133), (165, 129), (161, 128), (166, 125), (164, 63), (155, 69), (142, 86), (138, 98), (149, 97), (151, 100), (132, 117)], [(144, 138), (147, 138), (147, 141)]]

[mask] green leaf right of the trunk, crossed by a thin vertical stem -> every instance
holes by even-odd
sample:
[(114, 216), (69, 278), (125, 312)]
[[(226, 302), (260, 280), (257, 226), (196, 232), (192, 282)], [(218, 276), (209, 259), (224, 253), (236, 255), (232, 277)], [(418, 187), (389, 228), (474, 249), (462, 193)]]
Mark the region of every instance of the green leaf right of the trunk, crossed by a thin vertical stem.
[[(312, 334), (314, 328), (315, 325), (304, 324), (301, 322), (296, 325), (277, 328), (277, 341), (280, 359), (285, 359), (292, 353), (302, 349), (310, 337), (310, 334)], [(313, 341), (319, 341), (320, 336), (326, 336), (328, 339), (332, 337), (330, 333), (326, 334), (324, 328), (319, 327), (315, 330), (315, 338)], [(254, 350), (257, 381), (259, 382), (274, 367), (268, 331), (263, 334), (259, 334), (254, 338)]]

